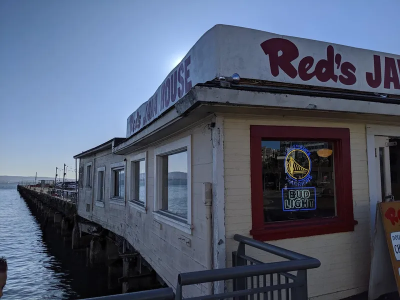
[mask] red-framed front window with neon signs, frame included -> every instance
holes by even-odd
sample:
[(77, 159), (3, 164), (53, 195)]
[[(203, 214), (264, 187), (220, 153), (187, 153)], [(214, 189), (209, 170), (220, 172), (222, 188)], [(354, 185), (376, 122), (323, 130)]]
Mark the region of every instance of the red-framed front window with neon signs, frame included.
[(351, 231), (347, 128), (250, 126), (255, 239)]

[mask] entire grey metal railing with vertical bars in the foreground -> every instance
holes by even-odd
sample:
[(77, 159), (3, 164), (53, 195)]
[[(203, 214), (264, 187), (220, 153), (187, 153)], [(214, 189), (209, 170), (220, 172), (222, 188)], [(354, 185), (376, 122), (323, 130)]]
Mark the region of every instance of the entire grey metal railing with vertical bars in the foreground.
[[(227, 285), (231, 283), (230, 291), (185, 299), (307, 300), (307, 269), (319, 267), (321, 263), (318, 259), (239, 234), (235, 234), (233, 238), (239, 244), (237, 250), (232, 252), (232, 267), (180, 273), (175, 295), (171, 294), (172, 289), (169, 287), (92, 298), (92, 300), (182, 300), (183, 286), (215, 281), (224, 281)], [(246, 255), (246, 245), (287, 260), (262, 262)]]

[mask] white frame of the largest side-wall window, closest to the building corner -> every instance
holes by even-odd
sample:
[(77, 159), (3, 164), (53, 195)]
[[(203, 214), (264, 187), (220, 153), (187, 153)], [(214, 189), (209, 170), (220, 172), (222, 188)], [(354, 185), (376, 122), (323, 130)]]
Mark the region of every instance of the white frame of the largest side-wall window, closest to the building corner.
[[(187, 220), (180, 220), (162, 209), (162, 156), (186, 148), (187, 150)], [(191, 135), (180, 138), (168, 144), (154, 149), (154, 211), (152, 214), (156, 220), (164, 222), (188, 234), (192, 233), (191, 211)]]

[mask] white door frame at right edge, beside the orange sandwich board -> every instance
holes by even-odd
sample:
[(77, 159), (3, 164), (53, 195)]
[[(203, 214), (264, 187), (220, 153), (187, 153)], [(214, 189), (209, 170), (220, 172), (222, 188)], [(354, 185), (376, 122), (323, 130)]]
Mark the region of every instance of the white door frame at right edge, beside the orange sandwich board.
[[(400, 125), (372, 125), (366, 124), (366, 155), (368, 165), (368, 191), (369, 191), (369, 240), (372, 245), (375, 230), (375, 207), (377, 199), (381, 193), (377, 188), (376, 180), (380, 180), (380, 174), (377, 173), (375, 163), (375, 135), (400, 137)], [(380, 170), (378, 170), (380, 171)]]

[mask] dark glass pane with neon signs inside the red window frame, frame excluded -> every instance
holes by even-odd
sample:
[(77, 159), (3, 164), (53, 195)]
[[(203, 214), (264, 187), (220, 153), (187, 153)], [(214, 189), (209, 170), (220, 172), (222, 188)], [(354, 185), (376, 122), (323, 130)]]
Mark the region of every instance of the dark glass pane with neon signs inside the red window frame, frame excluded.
[(262, 140), (264, 222), (336, 215), (333, 144)]

